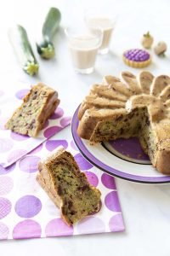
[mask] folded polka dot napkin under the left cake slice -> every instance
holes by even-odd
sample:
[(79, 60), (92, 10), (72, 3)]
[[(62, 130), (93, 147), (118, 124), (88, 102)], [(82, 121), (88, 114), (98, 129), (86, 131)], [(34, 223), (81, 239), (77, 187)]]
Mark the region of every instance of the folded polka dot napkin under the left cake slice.
[(16, 91), (0, 91), (0, 166), (7, 167), (12, 165), (20, 157), (37, 148), (42, 142), (61, 131), (71, 122), (71, 118), (66, 116), (63, 108), (59, 106), (44, 125), (44, 129), (39, 132), (37, 138), (5, 130), (5, 123), (14, 112), (14, 109), (20, 106), (23, 97), (26, 96), (29, 90), (29, 85), (17, 82)]

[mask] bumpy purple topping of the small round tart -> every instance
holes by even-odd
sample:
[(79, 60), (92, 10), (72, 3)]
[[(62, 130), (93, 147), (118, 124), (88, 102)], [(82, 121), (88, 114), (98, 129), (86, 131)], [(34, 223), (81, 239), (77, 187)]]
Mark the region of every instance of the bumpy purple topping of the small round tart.
[(129, 61), (148, 61), (150, 59), (150, 54), (144, 49), (128, 49), (124, 56)]

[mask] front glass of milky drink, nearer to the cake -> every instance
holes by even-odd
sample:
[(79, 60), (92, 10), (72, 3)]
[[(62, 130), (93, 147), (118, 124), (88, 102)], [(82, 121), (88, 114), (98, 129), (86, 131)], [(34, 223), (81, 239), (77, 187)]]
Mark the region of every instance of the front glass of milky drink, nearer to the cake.
[(102, 42), (100, 29), (65, 28), (71, 61), (77, 73), (93, 73), (99, 46)]

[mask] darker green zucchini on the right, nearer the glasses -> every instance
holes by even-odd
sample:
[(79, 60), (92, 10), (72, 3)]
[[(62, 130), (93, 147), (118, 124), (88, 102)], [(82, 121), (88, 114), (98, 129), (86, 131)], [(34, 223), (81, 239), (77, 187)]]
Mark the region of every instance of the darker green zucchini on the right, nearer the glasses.
[(54, 34), (59, 28), (61, 14), (59, 9), (51, 8), (42, 26), (42, 42), (37, 44), (37, 52), (44, 59), (51, 59), (55, 55), (54, 44), (52, 42)]

